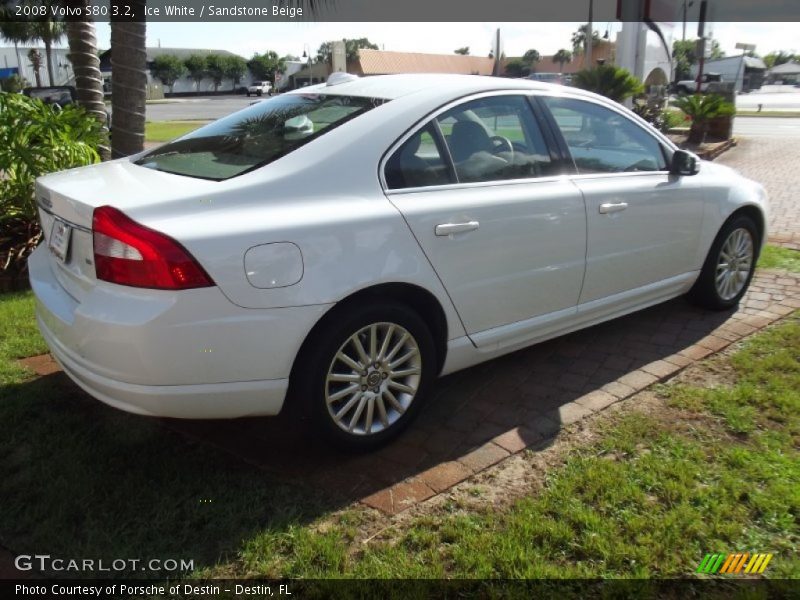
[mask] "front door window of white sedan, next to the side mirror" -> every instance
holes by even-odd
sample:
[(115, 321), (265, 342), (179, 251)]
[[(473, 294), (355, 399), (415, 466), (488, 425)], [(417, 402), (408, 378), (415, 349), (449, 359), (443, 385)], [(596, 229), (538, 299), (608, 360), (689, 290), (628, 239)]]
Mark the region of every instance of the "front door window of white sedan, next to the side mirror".
[(603, 106), (543, 97), (579, 173), (664, 171), (661, 144), (645, 129)]

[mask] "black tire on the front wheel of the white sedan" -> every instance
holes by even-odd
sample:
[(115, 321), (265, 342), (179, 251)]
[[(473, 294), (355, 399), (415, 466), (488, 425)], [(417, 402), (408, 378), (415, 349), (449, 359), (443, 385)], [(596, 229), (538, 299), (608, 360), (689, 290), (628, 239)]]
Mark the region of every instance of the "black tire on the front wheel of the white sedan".
[[(750, 260), (750, 270), (744, 280), (744, 285), (735, 295), (727, 297), (722, 294), (717, 285), (717, 268), (721, 260), (721, 252), (726, 242), (739, 230), (749, 233), (752, 244), (752, 258)], [(737, 215), (729, 219), (719, 230), (711, 249), (708, 251), (703, 268), (694, 286), (689, 290), (688, 298), (694, 304), (711, 310), (729, 310), (739, 304), (742, 296), (747, 292), (750, 281), (755, 272), (758, 262), (759, 248), (761, 247), (761, 236), (758, 226), (752, 218), (747, 215)]]

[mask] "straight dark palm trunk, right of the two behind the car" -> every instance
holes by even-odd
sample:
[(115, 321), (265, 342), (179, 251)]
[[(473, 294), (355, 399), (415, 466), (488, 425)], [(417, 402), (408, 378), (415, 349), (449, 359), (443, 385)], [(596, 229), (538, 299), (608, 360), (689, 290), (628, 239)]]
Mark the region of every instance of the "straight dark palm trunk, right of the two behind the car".
[[(144, 0), (133, 0), (135, 14), (144, 14)], [(111, 22), (111, 154), (128, 156), (144, 149), (147, 99), (147, 52), (144, 22)]]

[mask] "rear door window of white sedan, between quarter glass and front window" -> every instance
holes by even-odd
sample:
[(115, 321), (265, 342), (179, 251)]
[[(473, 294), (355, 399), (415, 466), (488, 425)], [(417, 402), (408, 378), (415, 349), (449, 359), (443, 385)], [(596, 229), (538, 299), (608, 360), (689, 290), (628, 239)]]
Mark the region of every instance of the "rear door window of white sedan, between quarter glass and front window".
[(436, 120), (461, 183), (554, 172), (547, 144), (523, 96), (471, 100)]

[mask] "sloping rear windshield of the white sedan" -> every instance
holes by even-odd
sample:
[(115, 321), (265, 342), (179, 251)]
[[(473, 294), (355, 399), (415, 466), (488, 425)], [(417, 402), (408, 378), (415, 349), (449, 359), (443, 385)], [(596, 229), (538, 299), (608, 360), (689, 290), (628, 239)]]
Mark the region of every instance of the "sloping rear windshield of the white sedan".
[(357, 96), (284, 94), (164, 144), (136, 164), (221, 181), (269, 164), (384, 102)]

